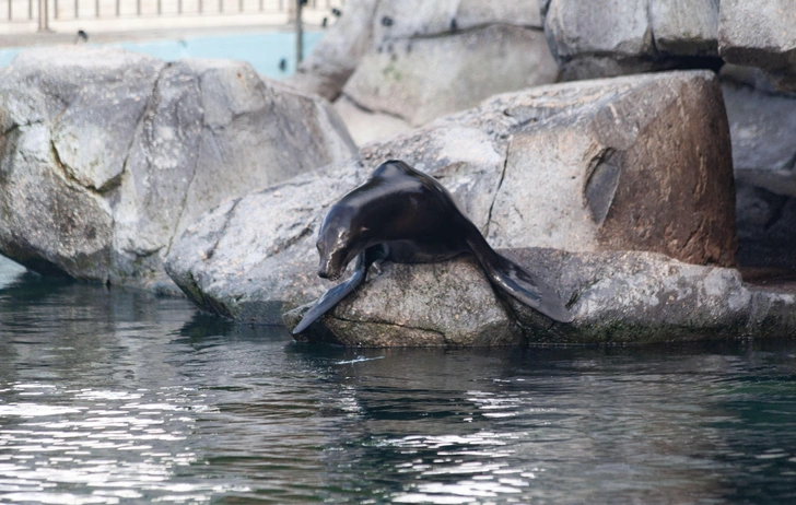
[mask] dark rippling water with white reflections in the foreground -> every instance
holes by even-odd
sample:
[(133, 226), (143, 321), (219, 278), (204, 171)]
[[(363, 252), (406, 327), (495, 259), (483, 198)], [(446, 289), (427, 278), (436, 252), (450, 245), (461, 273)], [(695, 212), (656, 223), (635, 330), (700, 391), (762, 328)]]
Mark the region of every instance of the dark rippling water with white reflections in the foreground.
[(0, 356), (0, 503), (796, 501), (794, 343), (347, 351), (24, 274)]

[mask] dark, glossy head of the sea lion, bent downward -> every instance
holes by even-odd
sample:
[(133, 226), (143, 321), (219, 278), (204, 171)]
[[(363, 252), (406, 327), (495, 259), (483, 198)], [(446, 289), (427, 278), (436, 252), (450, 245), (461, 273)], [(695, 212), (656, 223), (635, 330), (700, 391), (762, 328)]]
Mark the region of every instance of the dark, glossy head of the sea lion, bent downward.
[(366, 245), (366, 228), (356, 223), (356, 210), (344, 204), (329, 209), (318, 234), (318, 275), (336, 281)]

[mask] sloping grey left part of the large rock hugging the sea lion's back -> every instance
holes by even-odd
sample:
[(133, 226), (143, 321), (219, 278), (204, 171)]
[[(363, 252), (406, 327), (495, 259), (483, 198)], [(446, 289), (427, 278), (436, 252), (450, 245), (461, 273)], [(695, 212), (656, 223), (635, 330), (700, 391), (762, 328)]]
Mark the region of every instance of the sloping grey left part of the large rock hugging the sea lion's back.
[(166, 269), (206, 310), (253, 322), (279, 324), (282, 312), (335, 285), (316, 275), (317, 230), (328, 208), (367, 179), (375, 166), (402, 158), (440, 177), (484, 230), (500, 185), (508, 122), (497, 117), (487, 133), (463, 121), (421, 129), (366, 149), (351, 161), (305, 174), (230, 201), (190, 226), (175, 244)]

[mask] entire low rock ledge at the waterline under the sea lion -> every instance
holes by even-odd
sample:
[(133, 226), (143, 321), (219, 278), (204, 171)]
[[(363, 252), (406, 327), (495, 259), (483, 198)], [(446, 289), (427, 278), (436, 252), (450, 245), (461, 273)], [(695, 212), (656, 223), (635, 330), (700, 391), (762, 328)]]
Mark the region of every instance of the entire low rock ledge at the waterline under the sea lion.
[[(784, 337), (796, 329), (796, 294), (747, 286), (733, 269), (649, 252), (503, 254), (558, 286), (564, 297), (575, 293), (574, 322), (553, 322), (500, 294), (506, 310), (495, 304), (495, 293), (475, 261), (461, 258), (386, 266), (296, 338), (363, 347), (455, 347), (516, 345), (525, 339), (639, 343), (752, 333)], [(305, 309), (285, 314), (285, 325), (295, 325)]]

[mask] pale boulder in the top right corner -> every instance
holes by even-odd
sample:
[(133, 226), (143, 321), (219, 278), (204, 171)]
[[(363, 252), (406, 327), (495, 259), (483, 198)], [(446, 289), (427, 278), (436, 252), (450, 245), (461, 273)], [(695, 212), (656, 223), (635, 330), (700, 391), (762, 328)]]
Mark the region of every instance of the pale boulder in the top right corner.
[(727, 62), (759, 67), (796, 91), (796, 4), (791, 0), (722, 0), (718, 51)]

